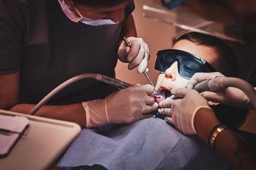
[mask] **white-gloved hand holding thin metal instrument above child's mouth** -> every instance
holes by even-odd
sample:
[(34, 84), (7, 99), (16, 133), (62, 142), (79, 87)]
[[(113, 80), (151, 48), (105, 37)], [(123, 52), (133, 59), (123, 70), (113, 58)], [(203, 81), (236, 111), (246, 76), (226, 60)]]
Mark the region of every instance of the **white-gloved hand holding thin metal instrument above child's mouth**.
[(126, 46), (124, 40), (121, 41), (117, 56), (121, 62), (128, 62), (128, 69), (132, 70), (138, 66), (138, 73), (146, 70), (150, 57), (148, 44), (142, 38), (127, 38), (130, 47)]

